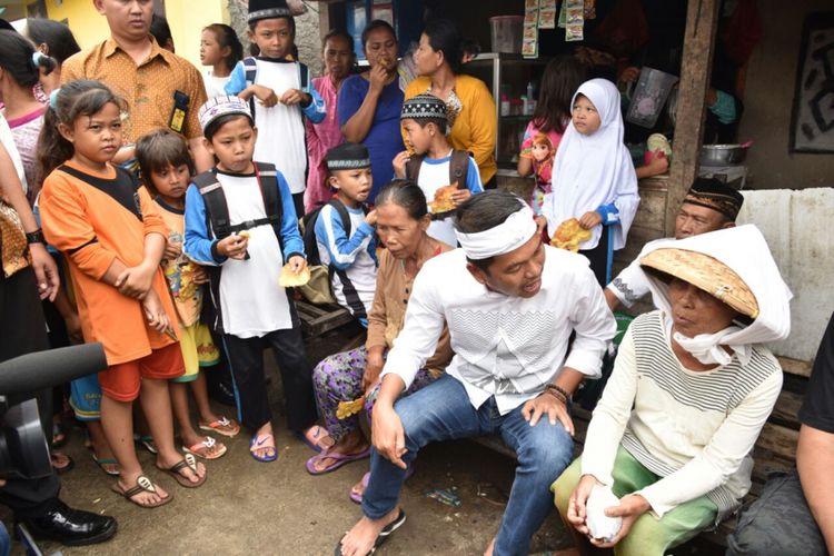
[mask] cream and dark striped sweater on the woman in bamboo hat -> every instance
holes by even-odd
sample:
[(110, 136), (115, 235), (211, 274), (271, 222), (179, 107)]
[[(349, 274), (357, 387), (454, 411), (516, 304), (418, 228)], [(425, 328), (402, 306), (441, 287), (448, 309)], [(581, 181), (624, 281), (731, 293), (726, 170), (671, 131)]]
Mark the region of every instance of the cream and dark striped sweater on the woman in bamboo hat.
[(749, 454), (778, 397), (782, 371), (762, 346), (753, 347), (746, 366), (733, 358), (714, 370), (688, 370), (672, 351), (669, 334), (659, 310), (629, 327), (594, 410), (582, 470), (612, 484), (622, 444), (661, 477), (638, 493), (658, 516), (706, 495), (721, 519), (749, 490)]

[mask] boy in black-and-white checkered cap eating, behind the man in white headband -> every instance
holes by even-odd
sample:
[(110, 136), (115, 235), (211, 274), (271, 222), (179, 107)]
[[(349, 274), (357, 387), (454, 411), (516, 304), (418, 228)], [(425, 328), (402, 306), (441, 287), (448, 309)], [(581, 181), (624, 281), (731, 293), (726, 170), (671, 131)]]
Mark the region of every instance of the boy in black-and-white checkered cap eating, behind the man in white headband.
[[(439, 200), (441, 188), (455, 186), (451, 193), (455, 207), (476, 193), (484, 192), (475, 160), (465, 150), (453, 149), (446, 131), (448, 119), (446, 103), (434, 95), (417, 95), (403, 103), (400, 115), (406, 142), (414, 155), (403, 151), (394, 158), (394, 173), (399, 179), (416, 181), (429, 207)], [(454, 208), (431, 211), (431, 225), (427, 234), (444, 244), (456, 246), (455, 228), (451, 224)]]

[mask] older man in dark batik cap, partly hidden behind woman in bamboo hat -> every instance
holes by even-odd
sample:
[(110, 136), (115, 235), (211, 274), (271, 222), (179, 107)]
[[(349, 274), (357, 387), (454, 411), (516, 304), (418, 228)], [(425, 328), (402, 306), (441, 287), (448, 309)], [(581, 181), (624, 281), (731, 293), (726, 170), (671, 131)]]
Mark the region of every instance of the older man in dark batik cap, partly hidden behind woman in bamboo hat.
[[(732, 228), (735, 226), (742, 203), (744, 197), (733, 187), (715, 178), (697, 178), (677, 211), (675, 239)], [(671, 239), (649, 241), (643, 248), (643, 254)], [(605, 300), (612, 310), (619, 305), (632, 307), (648, 294), (648, 281), (639, 268), (639, 259), (641, 257), (637, 257), (624, 268), (605, 288)]]

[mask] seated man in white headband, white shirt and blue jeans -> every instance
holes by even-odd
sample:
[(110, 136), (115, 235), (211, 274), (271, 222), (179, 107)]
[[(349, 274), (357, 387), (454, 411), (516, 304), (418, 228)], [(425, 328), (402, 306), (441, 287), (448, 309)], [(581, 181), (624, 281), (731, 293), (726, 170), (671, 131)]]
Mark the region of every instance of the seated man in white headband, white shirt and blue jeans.
[[(399, 493), (420, 448), (500, 435), (518, 469), (486, 554), (526, 555), (552, 508), (548, 484), (570, 459), (570, 396), (599, 376), (616, 330), (594, 274), (584, 257), (544, 246), (533, 211), (509, 192), (473, 197), (455, 226), (461, 248), (428, 260), (415, 279), (374, 409), (364, 517), (336, 554), (365, 556), (405, 522)], [(397, 401), (445, 322), (455, 353), (446, 374)]]

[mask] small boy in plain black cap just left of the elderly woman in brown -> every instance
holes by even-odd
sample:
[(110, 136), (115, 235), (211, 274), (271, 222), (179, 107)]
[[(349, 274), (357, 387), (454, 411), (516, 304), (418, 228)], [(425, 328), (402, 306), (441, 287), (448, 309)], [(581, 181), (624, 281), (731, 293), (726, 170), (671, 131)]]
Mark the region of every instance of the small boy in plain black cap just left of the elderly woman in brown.
[(365, 205), (374, 183), (370, 156), (364, 145), (345, 142), (330, 149), (325, 161), (336, 197), (306, 218), (305, 248), (310, 262), (315, 254), (328, 268), (336, 302), (367, 327), (378, 266), (377, 215)]

